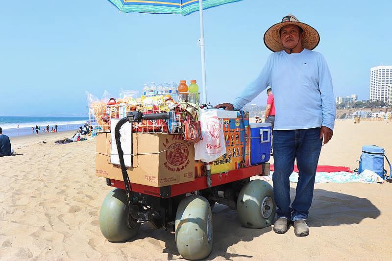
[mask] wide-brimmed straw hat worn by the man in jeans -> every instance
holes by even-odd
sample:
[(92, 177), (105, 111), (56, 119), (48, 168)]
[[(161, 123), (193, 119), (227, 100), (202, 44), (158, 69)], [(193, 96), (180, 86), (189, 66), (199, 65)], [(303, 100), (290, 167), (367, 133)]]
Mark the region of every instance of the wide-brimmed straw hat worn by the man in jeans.
[(305, 32), (302, 38), (302, 47), (313, 50), (320, 42), (319, 32), (308, 24), (298, 21), (294, 15), (287, 15), (283, 17), (281, 23), (272, 25), (264, 34), (264, 44), (273, 52), (281, 51), (284, 49), (280, 39), (279, 31), (283, 26), (294, 24), (302, 28)]

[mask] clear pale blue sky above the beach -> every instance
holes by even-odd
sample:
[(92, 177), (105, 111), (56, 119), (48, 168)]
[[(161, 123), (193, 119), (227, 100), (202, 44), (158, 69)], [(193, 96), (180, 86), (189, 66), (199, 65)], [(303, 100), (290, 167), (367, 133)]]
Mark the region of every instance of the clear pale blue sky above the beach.
[[(263, 34), (294, 14), (321, 36), (335, 95), (369, 96), (370, 67), (392, 65), (392, 2), (243, 0), (204, 12), (209, 101), (230, 102), (263, 67)], [(196, 79), (198, 13), (119, 13), (107, 0), (0, 3), (0, 115), (85, 115), (85, 92), (117, 96)], [(264, 105), (266, 95), (252, 103)]]

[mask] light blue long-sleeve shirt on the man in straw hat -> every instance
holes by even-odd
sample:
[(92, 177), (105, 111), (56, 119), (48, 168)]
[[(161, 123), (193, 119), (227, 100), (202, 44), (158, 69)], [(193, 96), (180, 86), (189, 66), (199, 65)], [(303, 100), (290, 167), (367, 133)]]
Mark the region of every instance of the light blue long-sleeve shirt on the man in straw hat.
[(234, 100), (234, 109), (242, 109), (268, 86), (275, 98), (274, 130), (321, 126), (333, 130), (332, 78), (321, 53), (308, 49), (292, 54), (284, 50), (272, 53), (257, 79)]

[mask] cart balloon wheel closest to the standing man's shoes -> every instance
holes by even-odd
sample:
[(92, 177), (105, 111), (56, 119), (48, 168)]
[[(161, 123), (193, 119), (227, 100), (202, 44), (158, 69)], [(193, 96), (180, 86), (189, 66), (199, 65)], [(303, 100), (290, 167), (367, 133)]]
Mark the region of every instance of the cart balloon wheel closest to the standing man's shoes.
[(265, 228), (272, 224), (276, 205), (272, 186), (264, 180), (252, 180), (240, 191), (237, 213), (243, 226)]

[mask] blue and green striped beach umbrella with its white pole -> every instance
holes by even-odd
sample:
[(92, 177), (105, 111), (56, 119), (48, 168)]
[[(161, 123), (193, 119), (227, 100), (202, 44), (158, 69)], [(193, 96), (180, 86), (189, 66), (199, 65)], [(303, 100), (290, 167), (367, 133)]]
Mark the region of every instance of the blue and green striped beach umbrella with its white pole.
[(207, 103), (207, 86), (205, 79), (205, 51), (203, 9), (241, 0), (109, 0), (124, 13), (152, 13), (152, 14), (182, 14), (199, 11), (200, 15), (200, 50), (201, 50), (201, 79), (203, 85), (203, 102)]

